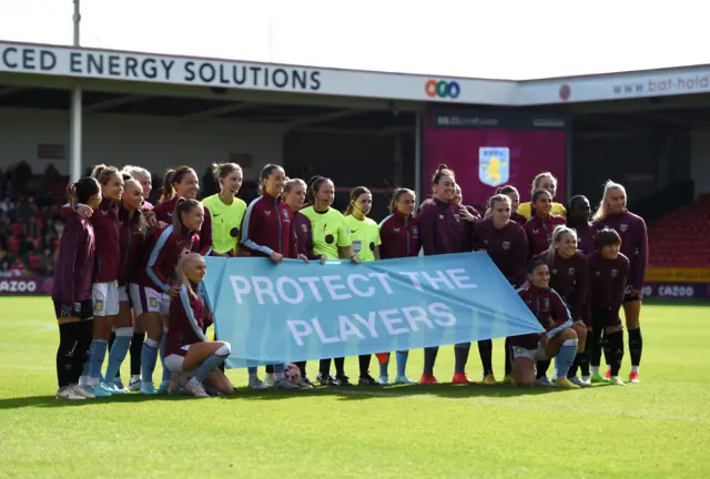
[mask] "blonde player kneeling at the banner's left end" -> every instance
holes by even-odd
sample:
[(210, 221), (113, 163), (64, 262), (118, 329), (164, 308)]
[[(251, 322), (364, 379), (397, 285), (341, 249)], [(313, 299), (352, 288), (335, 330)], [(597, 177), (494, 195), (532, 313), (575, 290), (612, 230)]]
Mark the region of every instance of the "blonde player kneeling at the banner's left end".
[(196, 397), (210, 397), (204, 385), (227, 396), (234, 387), (220, 370), (230, 355), (225, 342), (209, 342), (203, 333), (205, 298), (199, 293), (207, 268), (197, 253), (186, 253), (175, 274), (180, 293), (170, 302), (170, 326), (165, 338), (165, 367), (172, 375), (171, 393), (184, 387)]

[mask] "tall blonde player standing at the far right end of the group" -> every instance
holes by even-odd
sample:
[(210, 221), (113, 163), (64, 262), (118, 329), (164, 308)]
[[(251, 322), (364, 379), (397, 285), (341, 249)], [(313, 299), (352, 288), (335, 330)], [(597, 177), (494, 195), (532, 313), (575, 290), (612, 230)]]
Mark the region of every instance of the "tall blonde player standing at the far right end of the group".
[[(621, 253), (629, 259), (629, 275), (626, 278), (623, 315), (629, 330), (629, 355), (631, 373), (629, 383), (639, 383), (639, 367), (643, 339), (641, 337), (641, 302), (643, 299), (643, 278), (648, 266), (648, 232), (642, 217), (627, 210), (626, 188), (611, 180), (604, 187), (599, 210), (595, 213), (592, 228), (612, 228), (621, 237)], [(611, 376), (607, 368), (607, 378)]]

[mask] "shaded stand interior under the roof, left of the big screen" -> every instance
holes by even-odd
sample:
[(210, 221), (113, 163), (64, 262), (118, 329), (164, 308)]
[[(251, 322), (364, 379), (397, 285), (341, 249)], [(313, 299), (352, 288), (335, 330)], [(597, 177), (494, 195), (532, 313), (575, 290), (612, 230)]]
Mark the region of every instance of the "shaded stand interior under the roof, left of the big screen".
[[(0, 73), (0, 162), (28, 162), (34, 173), (51, 163), (69, 173), (72, 79)], [(349, 191), (373, 191), (372, 216), (387, 214), (394, 185), (415, 187), (416, 118), (424, 103), (80, 80), (83, 91), (82, 167), (139, 164), (161, 183), (166, 167), (193, 166), (202, 194), (216, 183), (213, 162), (244, 169), (240, 196), (257, 195), (263, 165), (284, 165), (291, 177), (333, 179), (334, 206)]]

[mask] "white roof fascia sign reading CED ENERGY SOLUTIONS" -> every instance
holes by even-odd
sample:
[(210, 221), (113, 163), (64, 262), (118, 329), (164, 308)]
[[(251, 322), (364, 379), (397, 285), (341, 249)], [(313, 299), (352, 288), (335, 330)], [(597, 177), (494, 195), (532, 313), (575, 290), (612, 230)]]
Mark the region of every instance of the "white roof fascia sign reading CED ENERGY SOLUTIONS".
[(0, 42), (0, 72), (448, 103), (511, 104), (513, 81)]

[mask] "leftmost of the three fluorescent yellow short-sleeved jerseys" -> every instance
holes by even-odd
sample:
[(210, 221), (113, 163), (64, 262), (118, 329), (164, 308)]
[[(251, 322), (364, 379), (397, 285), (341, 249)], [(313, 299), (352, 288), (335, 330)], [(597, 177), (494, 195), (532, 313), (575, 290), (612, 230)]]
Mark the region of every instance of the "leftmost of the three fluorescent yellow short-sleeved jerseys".
[(215, 194), (202, 200), (202, 204), (212, 215), (212, 249), (220, 254), (236, 254), (246, 203), (235, 197), (232, 204), (225, 204), (220, 195)]

